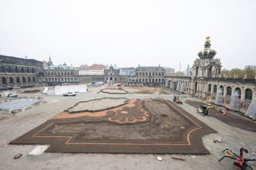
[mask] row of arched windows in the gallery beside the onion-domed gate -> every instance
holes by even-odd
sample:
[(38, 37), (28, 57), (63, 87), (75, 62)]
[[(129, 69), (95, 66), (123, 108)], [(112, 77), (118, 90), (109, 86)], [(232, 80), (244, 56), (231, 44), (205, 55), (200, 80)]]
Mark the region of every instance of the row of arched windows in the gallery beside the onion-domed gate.
[[(208, 85), (208, 92), (211, 92), (211, 89), (212, 89), (212, 85), (209, 84)], [(220, 86), (220, 89), (223, 89), (223, 92), (224, 92), (224, 87), (221, 85)], [(236, 91), (239, 91), (239, 94), (241, 96), (241, 89), (239, 87), (237, 87), (235, 89), (235, 92)], [(217, 92), (217, 85), (213, 85), (213, 92), (216, 93)], [(232, 88), (230, 86), (227, 87), (227, 96), (231, 96), (232, 95)], [(248, 99), (248, 100), (252, 100), (252, 90), (251, 89), (246, 89), (245, 90), (245, 96), (244, 96), (244, 99)]]

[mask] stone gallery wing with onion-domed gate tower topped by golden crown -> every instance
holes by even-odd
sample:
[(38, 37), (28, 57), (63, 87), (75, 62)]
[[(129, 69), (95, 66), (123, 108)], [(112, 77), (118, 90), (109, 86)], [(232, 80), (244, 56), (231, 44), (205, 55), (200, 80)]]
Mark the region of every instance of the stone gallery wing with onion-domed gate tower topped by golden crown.
[[(216, 51), (212, 50), (210, 37), (207, 36), (204, 50), (198, 53), (192, 67), (192, 75), (166, 76), (166, 86), (173, 84), (184, 87), (184, 92), (191, 96), (214, 101), (217, 92), (223, 91), (223, 105), (230, 104), (230, 99), (236, 91), (240, 94), (240, 110), (245, 112), (254, 97), (256, 97), (256, 78), (221, 78), (220, 59), (214, 59)], [(178, 88), (179, 89), (179, 88)]]

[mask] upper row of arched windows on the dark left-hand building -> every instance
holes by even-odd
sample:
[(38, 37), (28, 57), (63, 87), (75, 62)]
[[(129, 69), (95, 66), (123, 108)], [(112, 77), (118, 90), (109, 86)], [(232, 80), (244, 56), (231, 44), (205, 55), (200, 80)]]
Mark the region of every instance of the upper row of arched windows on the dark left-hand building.
[(34, 67), (0, 66), (0, 73), (36, 73)]

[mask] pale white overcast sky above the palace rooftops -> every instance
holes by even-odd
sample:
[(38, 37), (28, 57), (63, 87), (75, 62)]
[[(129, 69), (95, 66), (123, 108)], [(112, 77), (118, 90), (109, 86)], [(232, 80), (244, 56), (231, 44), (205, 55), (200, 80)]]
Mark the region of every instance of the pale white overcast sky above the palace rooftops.
[(223, 67), (256, 65), (256, 1), (0, 0), (0, 54), (54, 64), (192, 66), (205, 36)]

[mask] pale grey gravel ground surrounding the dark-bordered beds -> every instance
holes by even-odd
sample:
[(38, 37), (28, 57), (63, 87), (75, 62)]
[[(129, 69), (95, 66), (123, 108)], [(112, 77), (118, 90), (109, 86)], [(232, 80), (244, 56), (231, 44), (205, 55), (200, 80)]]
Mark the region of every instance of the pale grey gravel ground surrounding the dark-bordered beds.
[[(244, 146), (249, 150), (244, 157), (256, 157), (253, 150), (256, 149), (255, 132), (245, 131), (237, 127), (227, 125), (214, 117), (202, 117), (196, 113), (195, 108), (189, 104), (180, 105), (184, 110), (209, 125), (218, 133), (208, 134), (202, 138), (204, 146), (211, 154), (209, 155), (182, 155), (185, 161), (174, 160), (170, 154), (160, 154), (163, 161), (158, 161), (159, 154), (110, 154), (110, 153), (44, 153), (40, 156), (28, 155), (35, 145), (8, 145), (3, 146), (3, 140), (10, 141), (31, 131), (40, 124), (61, 113), (63, 110), (74, 106), (79, 101), (100, 99), (102, 97), (125, 97), (127, 99), (168, 99), (170, 94), (156, 92), (154, 94), (138, 94), (140, 88), (123, 87), (128, 94), (104, 94), (98, 93), (101, 87), (90, 87), (90, 91), (79, 93), (75, 97), (46, 96), (38, 93), (20, 93), (20, 97), (44, 97), (47, 103), (35, 106), (16, 115), (5, 115), (0, 120), (0, 167), (1, 169), (234, 169), (231, 159), (218, 162), (223, 156), (225, 148), (230, 148), (238, 153), (239, 148)], [(166, 90), (166, 89), (164, 89)], [(195, 100), (186, 95), (180, 99)], [(212, 140), (220, 136), (222, 143), (213, 143)], [(13, 156), (22, 153), (19, 159)], [(256, 167), (256, 164), (251, 165)]]

